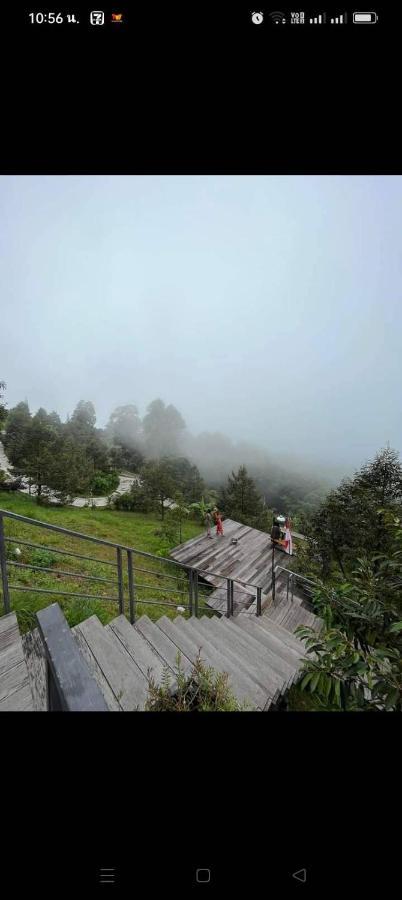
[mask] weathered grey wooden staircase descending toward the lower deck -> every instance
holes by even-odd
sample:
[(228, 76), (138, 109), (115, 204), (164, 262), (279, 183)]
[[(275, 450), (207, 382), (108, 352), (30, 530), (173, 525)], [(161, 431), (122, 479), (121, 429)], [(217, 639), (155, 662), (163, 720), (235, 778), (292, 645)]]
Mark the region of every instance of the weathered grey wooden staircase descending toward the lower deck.
[[(23, 677), (20, 673), (20, 688), (7, 697), (7, 686), (2, 687), (0, 675), (0, 697), (3, 696), (0, 709), (44, 709), (43, 687), (39, 691), (42, 699), (37, 701), (38, 662), (34, 660), (33, 671), (33, 659), (28, 657), (27, 667), (16, 617), (12, 613), (0, 620), (4, 633), (5, 620), (9, 620), (15, 646), (19, 641), (15, 665), (24, 668), (24, 673)], [(167, 668), (174, 686), (178, 659), (188, 673), (199, 654), (207, 666), (228, 674), (230, 689), (246, 709), (268, 710), (297, 679), (305, 656), (303, 644), (280, 623), (266, 616), (258, 619), (177, 616), (173, 621), (162, 616), (157, 622), (151, 622), (144, 615), (135, 626), (123, 615), (106, 626), (97, 616), (91, 616), (72, 628), (71, 635), (79, 650), (80, 663), (85, 661), (107, 709), (115, 712), (144, 710), (150, 676), (160, 683)], [(4, 653), (7, 649), (2, 648), (0, 673), (5, 667)]]

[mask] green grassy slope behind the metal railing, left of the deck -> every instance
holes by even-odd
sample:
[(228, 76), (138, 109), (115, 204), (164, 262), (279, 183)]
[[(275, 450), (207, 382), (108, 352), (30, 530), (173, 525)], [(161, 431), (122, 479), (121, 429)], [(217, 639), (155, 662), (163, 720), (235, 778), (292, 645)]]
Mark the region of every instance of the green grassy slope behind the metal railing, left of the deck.
[[(127, 513), (110, 509), (76, 509), (71, 507), (46, 507), (38, 504), (30, 497), (22, 494), (10, 494), (0, 491), (0, 509), (18, 513), (41, 522), (68, 528), (81, 534), (93, 535), (114, 543), (124, 544), (137, 550), (143, 550), (159, 556), (168, 556), (170, 547), (179, 543), (176, 540), (169, 541), (158, 534), (161, 528), (161, 520), (153, 513)], [(202, 526), (196, 522), (185, 522), (182, 528), (182, 540), (186, 541), (199, 534)], [(103, 624), (109, 622), (118, 614), (117, 601), (110, 601), (107, 597), (117, 597), (117, 570), (105, 563), (116, 562), (116, 553), (112, 548), (92, 544), (74, 537), (66, 537), (56, 532), (27, 526), (13, 520), (5, 519), (6, 536), (17, 539), (17, 543), (7, 543), (7, 557), (9, 560), (9, 582), (18, 587), (37, 587), (49, 591), (71, 591), (72, 593), (88, 594), (87, 599), (78, 597), (57, 596), (54, 593), (36, 594), (29, 590), (11, 590), (11, 606), (17, 613), (22, 632), (35, 627), (35, 612), (57, 601), (64, 610), (70, 626), (83, 621), (88, 616), (96, 614)], [(27, 547), (21, 543), (27, 541), (40, 544), (40, 549)], [(16, 555), (15, 549), (19, 547), (21, 555)], [(81, 560), (74, 556), (66, 556), (50, 552), (52, 550), (70, 550), (85, 556), (96, 557), (95, 561)], [(25, 563), (50, 569), (49, 572), (33, 571), (31, 569), (18, 568), (12, 563)], [(175, 566), (168, 563), (149, 560), (139, 556), (134, 557), (135, 583), (137, 597), (136, 615), (146, 613), (151, 619), (157, 619), (161, 615), (174, 618), (177, 615), (176, 608), (166, 607), (162, 604), (150, 605), (141, 602), (144, 599), (166, 600), (179, 605), (188, 603), (188, 595), (181, 595), (180, 590), (187, 590), (186, 576)], [(126, 598), (126, 613), (128, 613), (128, 576), (126, 557), (123, 558), (124, 592)], [(139, 569), (147, 569), (140, 572)], [(63, 573), (72, 573), (75, 577)], [(170, 575), (171, 578), (162, 578), (162, 575)], [(94, 576), (113, 580), (114, 584), (106, 584), (102, 581), (90, 581), (79, 576)], [(141, 587), (140, 587), (141, 585)], [(159, 588), (159, 590), (158, 590)], [(167, 590), (169, 588), (169, 590)], [(105, 599), (96, 599), (93, 595), (101, 595)], [(3, 610), (0, 610), (3, 612)]]

